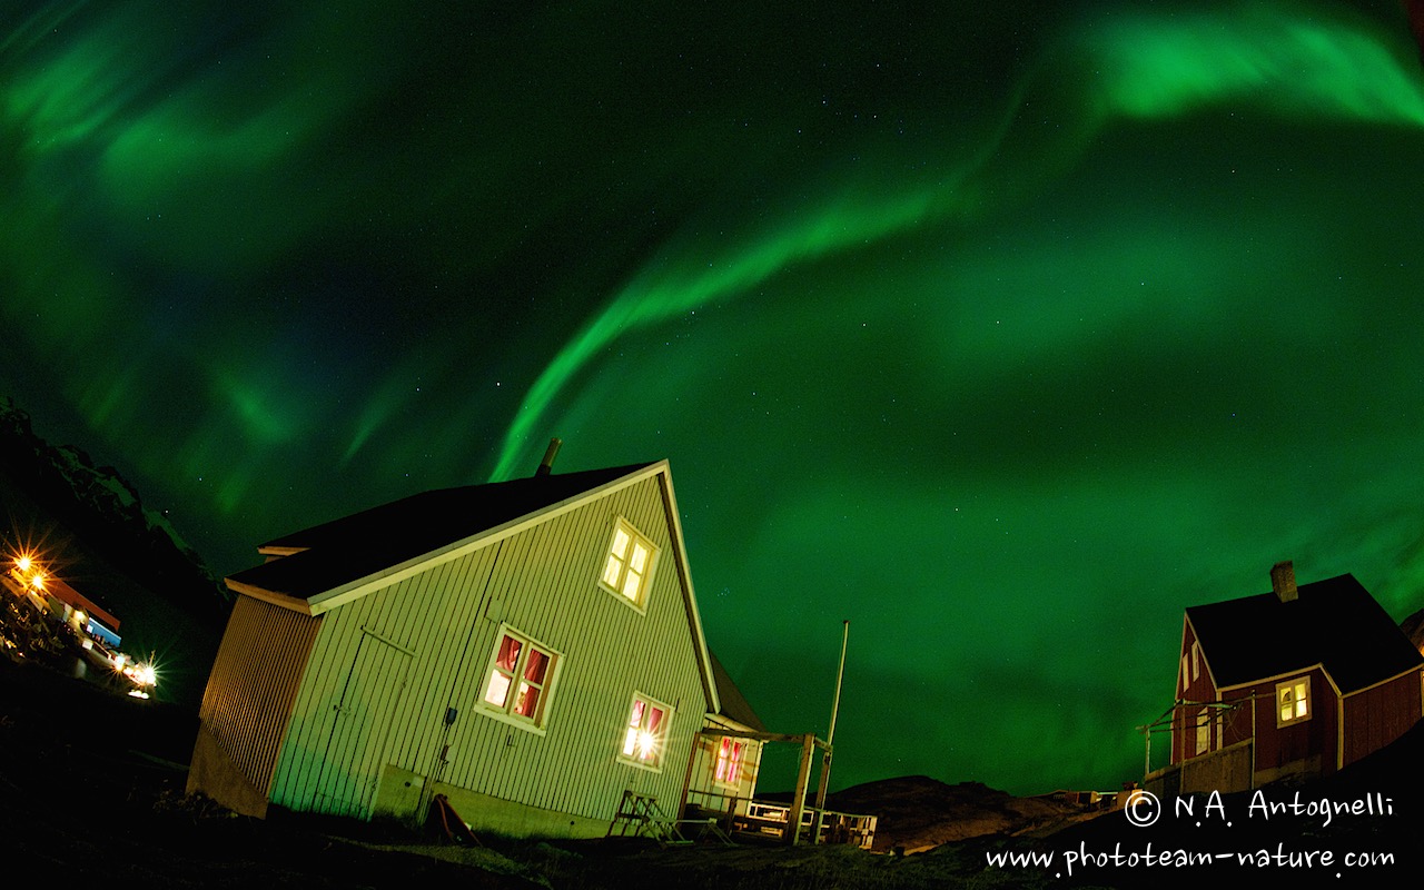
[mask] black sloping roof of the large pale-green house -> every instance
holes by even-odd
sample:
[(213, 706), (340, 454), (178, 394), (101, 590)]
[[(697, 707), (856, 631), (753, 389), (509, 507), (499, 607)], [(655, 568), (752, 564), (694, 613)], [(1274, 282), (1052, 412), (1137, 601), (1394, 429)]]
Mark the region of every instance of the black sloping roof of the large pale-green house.
[(238, 592), (312, 601), (322, 594), (390, 574), (564, 501), (656, 464), (631, 464), (440, 488), (273, 538), (258, 550), (289, 554), (236, 572)]

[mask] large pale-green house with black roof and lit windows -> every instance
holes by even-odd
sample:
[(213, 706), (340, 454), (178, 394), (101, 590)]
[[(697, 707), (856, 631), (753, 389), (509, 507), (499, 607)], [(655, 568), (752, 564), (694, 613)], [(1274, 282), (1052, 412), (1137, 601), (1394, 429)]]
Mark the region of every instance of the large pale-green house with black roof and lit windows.
[(515, 834), (602, 834), (625, 789), (675, 810), (721, 708), (666, 461), (431, 491), (259, 550), (228, 580), (189, 790), (360, 819), (444, 793)]

